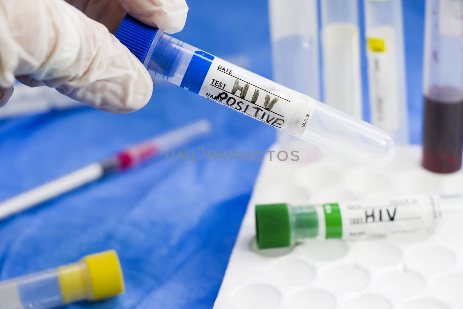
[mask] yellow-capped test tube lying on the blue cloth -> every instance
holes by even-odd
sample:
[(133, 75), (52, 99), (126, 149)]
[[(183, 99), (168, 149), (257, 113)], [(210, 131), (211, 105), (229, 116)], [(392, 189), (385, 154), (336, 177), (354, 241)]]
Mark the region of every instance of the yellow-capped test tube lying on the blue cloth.
[(124, 279), (113, 250), (79, 262), (0, 282), (1, 309), (50, 309), (96, 301), (124, 291)]

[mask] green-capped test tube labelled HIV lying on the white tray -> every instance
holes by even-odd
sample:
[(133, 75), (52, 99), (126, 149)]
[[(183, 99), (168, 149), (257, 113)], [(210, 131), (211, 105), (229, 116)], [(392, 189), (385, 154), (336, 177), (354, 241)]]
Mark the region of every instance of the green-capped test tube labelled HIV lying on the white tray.
[(442, 225), (463, 206), (462, 195), (417, 195), (377, 201), (293, 206), (256, 205), (260, 249), (292, 246), (306, 239), (364, 240), (420, 233)]

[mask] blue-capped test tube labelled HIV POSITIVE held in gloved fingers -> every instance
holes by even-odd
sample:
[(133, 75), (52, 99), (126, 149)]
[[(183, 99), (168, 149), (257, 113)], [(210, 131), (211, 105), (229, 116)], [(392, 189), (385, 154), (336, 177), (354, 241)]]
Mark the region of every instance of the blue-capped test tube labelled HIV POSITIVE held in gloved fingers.
[(387, 132), (183, 43), (126, 15), (116, 37), (152, 76), (230, 107), (361, 164), (395, 156)]

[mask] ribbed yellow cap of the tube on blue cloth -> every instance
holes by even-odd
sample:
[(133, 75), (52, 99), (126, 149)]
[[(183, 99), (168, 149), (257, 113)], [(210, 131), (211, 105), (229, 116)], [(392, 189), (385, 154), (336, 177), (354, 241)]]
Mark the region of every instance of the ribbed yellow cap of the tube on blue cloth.
[(82, 259), (87, 265), (92, 288), (91, 300), (112, 297), (124, 292), (124, 277), (114, 250), (95, 253)]

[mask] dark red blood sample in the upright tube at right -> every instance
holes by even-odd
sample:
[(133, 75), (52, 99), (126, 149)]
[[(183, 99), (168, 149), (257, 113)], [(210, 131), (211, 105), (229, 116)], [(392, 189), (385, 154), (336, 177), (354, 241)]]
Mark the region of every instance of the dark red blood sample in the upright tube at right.
[(463, 94), (455, 88), (433, 87), (425, 95), (423, 167), (436, 173), (459, 170), (462, 143)]

